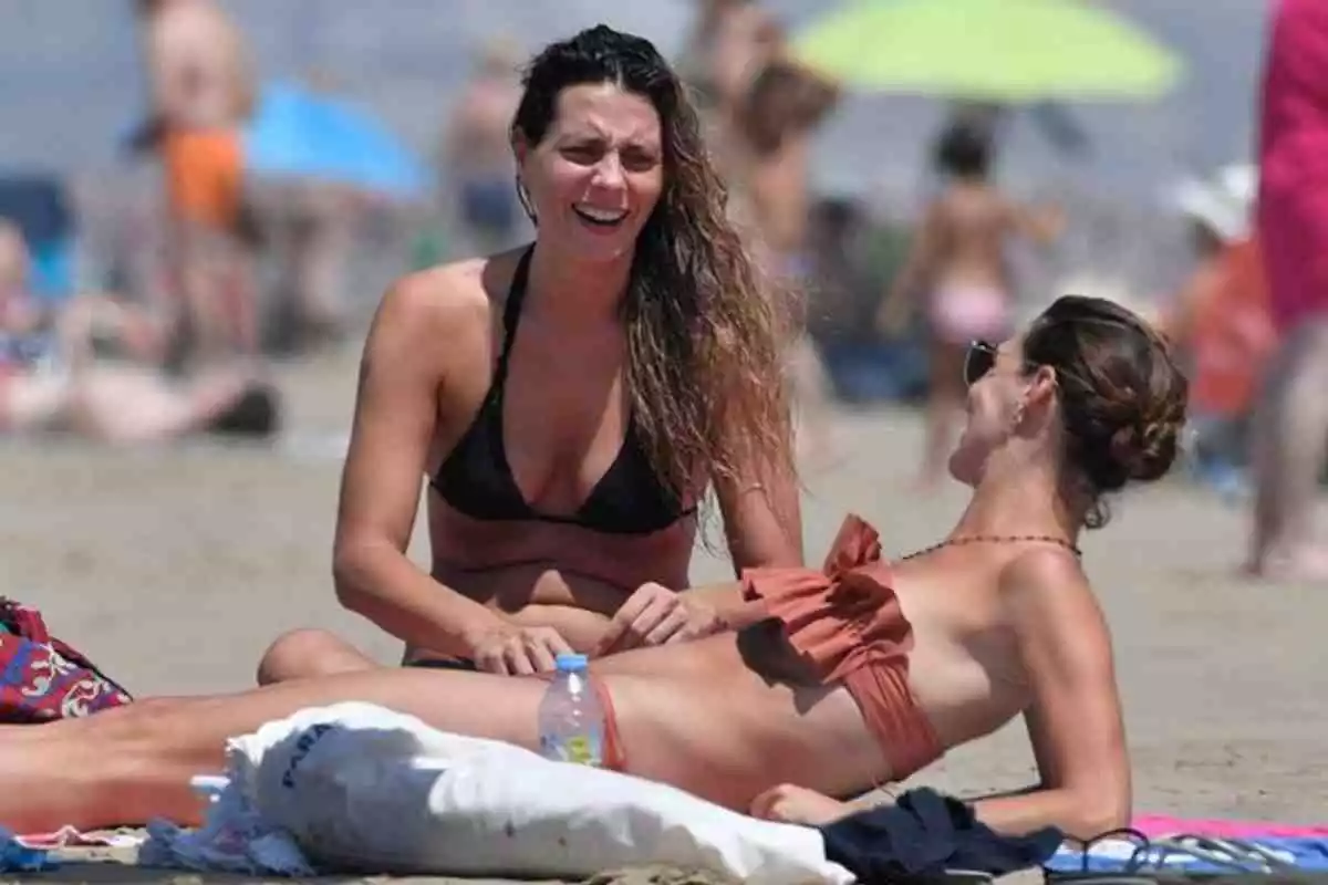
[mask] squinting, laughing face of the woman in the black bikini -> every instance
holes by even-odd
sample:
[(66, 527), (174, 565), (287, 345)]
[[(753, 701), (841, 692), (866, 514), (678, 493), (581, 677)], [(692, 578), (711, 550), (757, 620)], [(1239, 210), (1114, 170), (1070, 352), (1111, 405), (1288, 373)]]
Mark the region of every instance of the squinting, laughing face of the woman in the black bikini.
[(664, 188), (648, 98), (612, 82), (567, 86), (543, 139), (530, 145), (518, 130), (513, 150), (542, 241), (586, 261), (631, 256)]

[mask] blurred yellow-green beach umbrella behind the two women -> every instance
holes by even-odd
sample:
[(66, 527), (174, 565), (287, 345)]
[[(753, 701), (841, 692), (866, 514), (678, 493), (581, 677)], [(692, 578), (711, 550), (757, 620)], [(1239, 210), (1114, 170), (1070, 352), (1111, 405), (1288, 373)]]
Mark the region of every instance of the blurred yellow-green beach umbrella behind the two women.
[(1153, 100), (1182, 70), (1093, 0), (850, 0), (794, 54), (851, 89), (991, 102)]

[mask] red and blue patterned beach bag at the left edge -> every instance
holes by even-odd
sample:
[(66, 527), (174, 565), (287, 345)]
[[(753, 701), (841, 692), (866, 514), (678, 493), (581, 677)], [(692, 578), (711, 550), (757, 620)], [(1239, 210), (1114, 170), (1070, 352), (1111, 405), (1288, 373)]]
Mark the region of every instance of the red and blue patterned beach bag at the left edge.
[(37, 609), (0, 597), (0, 724), (86, 716), (130, 701), (86, 657), (52, 637)]

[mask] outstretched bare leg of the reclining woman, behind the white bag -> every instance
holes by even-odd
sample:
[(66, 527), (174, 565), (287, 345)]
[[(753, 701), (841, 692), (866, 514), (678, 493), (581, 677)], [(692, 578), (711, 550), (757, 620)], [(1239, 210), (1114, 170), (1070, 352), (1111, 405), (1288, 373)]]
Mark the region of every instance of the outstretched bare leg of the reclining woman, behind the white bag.
[(380, 670), (212, 698), (147, 699), (86, 719), (0, 728), (0, 827), (17, 832), (195, 823), (189, 782), (223, 767), (226, 739), (305, 707), (372, 699), (458, 734), (538, 746), (544, 683), (477, 673)]

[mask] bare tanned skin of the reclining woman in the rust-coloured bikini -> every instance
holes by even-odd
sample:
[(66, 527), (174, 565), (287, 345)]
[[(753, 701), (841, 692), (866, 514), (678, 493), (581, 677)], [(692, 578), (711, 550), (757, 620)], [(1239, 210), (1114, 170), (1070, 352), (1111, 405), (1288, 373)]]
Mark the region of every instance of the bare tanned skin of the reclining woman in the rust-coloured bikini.
[[(1007, 345), (995, 379), (971, 391), (973, 414), (989, 411), (984, 398), (1005, 402), (1013, 395), (1001, 393), (1007, 382), (999, 373), (1017, 372), (1020, 362), (1017, 346), (1011, 352)], [(1046, 389), (1046, 382), (1033, 386), (1029, 411), (1050, 414)], [(980, 421), (995, 419), (972, 417), (965, 434), (976, 433)], [(1041, 418), (1031, 421), (1042, 426)], [(1058, 468), (1049, 452), (1058, 439), (1049, 433), (980, 455), (980, 478), (956, 468), (976, 491), (952, 536), (1077, 539), (1082, 511), (1057, 491)], [(977, 446), (961, 442), (956, 458)], [(1127, 819), (1129, 763), (1110, 640), (1069, 549), (1045, 541), (954, 545), (865, 569), (895, 588), (914, 625), (911, 687), (944, 747), (1024, 715), (1041, 783), (1025, 795), (979, 803), (983, 820), (1007, 832), (1054, 824), (1086, 837)], [(817, 685), (772, 629), (776, 622), (760, 620), (760, 604), (744, 604), (736, 585), (703, 593), (737, 629), (592, 663), (614, 698), (632, 774), (764, 812), (770, 812), (772, 788), (774, 804), (795, 796), (781, 784), (846, 796), (891, 779), (853, 698), (838, 685)], [(189, 778), (220, 768), (227, 736), (348, 699), (534, 748), (543, 690), (531, 678), (373, 670), (4, 728), (0, 824), (31, 831), (154, 815), (198, 820)]]

